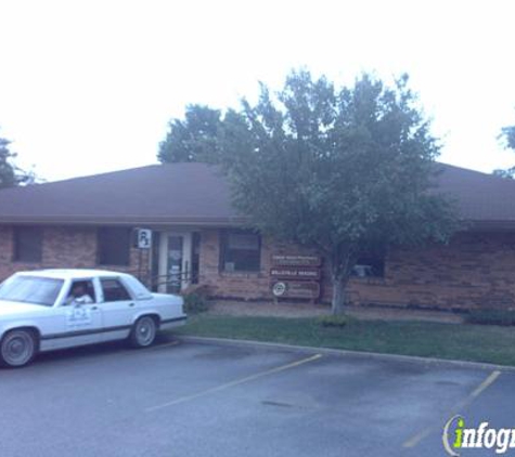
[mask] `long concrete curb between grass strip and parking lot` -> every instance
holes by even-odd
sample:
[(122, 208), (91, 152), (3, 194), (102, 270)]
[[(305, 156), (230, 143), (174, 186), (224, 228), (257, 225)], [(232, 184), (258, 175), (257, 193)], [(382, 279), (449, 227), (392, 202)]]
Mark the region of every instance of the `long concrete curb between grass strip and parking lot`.
[(454, 361), (446, 358), (420, 357), (416, 355), (398, 355), (398, 354), (382, 354), (378, 352), (361, 352), (349, 351), (344, 349), (331, 348), (313, 348), (307, 345), (293, 345), (273, 342), (254, 341), (254, 340), (233, 340), (229, 338), (210, 338), (210, 337), (189, 337), (177, 336), (177, 339), (184, 342), (194, 342), (199, 344), (218, 344), (232, 345), (240, 348), (260, 348), (269, 350), (283, 350), (289, 352), (308, 353), (308, 354), (326, 354), (336, 356), (346, 356), (351, 358), (375, 358), (379, 361), (391, 362), (410, 362), (424, 365), (448, 365), (451, 367), (469, 368), (469, 369), (485, 369), (485, 370), (500, 370), (500, 371), (515, 371), (515, 366), (495, 365), (481, 362)]

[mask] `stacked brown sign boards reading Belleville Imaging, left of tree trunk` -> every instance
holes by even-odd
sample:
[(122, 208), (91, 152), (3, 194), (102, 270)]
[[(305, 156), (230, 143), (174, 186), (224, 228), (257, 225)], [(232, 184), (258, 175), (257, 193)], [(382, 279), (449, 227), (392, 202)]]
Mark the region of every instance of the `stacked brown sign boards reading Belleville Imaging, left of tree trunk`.
[(271, 291), (275, 299), (317, 300), (322, 279), (320, 256), (272, 254)]

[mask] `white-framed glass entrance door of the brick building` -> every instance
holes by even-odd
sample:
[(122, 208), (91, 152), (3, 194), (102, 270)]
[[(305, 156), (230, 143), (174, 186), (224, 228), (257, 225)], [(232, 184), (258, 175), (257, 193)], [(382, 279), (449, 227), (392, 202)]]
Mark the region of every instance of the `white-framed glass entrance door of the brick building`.
[(162, 233), (159, 246), (159, 292), (178, 293), (191, 284), (191, 233)]

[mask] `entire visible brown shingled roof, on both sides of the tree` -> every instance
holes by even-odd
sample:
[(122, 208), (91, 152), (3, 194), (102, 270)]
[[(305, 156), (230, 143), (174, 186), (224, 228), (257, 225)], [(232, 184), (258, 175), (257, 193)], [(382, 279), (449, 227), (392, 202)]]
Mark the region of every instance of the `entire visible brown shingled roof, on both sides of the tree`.
[[(461, 218), (515, 228), (515, 181), (438, 164)], [(229, 187), (205, 164), (152, 165), (0, 191), (0, 223), (236, 225)]]

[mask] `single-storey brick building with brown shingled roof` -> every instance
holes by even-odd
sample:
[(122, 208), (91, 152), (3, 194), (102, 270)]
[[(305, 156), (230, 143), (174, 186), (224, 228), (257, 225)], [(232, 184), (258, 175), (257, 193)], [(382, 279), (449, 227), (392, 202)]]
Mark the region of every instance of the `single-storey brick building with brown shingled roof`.
[[(438, 167), (439, 190), (456, 200), (467, 230), (447, 246), (363, 259), (349, 286), (353, 304), (515, 306), (515, 181)], [(20, 270), (102, 267), (132, 272), (162, 291), (198, 283), (215, 297), (269, 299), (273, 284), (288, 284), (271, 276), (281, 256), (318, 257), (245, 231), (243, 222), (223, 178), (203, 164), (3, 190), (0, 279)], [(133, 247), (137, 227), (152, 230), (151, 249)], [(329, 301), (320, 261), (321, 299)]]

